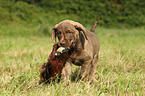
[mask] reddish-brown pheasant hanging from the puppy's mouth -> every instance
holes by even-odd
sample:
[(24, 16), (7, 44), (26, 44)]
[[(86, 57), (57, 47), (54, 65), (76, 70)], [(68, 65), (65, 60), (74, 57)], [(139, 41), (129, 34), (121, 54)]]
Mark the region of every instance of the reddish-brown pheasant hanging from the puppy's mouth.
[(54, 80), (61, 73), (70, 54), (70, 47), (59, 47), (58, 44), (54, 44), (48, 60), (40, 67), (39, 83)]

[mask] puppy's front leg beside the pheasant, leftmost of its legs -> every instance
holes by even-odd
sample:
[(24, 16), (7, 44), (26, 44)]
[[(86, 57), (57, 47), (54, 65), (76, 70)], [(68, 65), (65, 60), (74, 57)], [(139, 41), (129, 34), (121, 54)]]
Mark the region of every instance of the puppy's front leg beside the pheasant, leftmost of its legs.
[(61, 82), (67, 79), (69, 80), (70, 74), (71, 74), (71, 64), (69, 62), (66, 62), (61, 72)]

